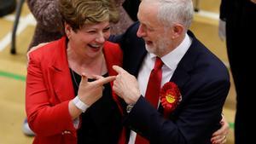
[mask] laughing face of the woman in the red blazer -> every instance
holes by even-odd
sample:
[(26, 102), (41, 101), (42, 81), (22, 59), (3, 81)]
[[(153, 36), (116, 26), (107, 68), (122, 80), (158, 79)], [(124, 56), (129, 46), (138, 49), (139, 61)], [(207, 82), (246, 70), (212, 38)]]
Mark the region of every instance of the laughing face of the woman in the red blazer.
[(110, 25), (108, 21), (97, 24), (86, 24), (76, 32), (66, 24), (67, 37), (70, 49), (76, 54), (93, 58), (102, 54), (102, 48), (110, 36)]

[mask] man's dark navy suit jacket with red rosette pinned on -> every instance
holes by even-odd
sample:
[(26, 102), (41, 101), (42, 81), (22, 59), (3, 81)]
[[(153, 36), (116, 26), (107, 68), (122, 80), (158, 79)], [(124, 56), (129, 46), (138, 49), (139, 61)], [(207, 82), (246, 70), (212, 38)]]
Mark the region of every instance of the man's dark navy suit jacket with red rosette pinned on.
[[(131, 26), (122, 36), (112, 37), (124, 50), (125, 70), (136, 77), (147, 54), (143, 39), (136, 35), (138, 25)], [(169, 119), (161, 115), (163, 107), (154, 109), (143, 96), (125, 119), (125, 125), (147, 137), (150, 143), (207, 144), (220, 126), (230, 89), (229, 72), (192, 32), (188, 34), (192, 44), (170, 80), (180, 89), (182, 101)]]

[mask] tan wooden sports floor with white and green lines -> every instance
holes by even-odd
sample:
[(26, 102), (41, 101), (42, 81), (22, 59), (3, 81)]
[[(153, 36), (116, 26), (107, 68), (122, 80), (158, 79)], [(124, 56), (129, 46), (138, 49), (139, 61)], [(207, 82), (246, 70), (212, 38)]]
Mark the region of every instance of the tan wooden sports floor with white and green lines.
[[(225, 43), (218, 38), (218, 7), (220, 0), (203, 0), (195, 14), (191, 30), (226, 66), (229, 66)], [(25, 112), (26, 49), (32, 39), (35, 20), (24, 4), (16, 38), (16, 55), (10, 55), (10, 33), (15, 14), (0, 18), (0, 144), (28, 144), (32, 138), (23, 135)], [(232, 82), (224, 105), (224, 115), (230, 123), (227, 144), (234, 143), (236, 91)]]

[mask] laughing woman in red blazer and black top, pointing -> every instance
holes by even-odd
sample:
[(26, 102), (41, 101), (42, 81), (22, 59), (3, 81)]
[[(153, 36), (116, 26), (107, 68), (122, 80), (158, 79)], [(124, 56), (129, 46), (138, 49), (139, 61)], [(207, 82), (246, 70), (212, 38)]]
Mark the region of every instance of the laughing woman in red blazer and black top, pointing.
[(65, 37), (29, 53), (26, 114), (35, 144), (117, 143), (121, 113), (112, 93), (119, 46), (107, 0), (60, 0)]

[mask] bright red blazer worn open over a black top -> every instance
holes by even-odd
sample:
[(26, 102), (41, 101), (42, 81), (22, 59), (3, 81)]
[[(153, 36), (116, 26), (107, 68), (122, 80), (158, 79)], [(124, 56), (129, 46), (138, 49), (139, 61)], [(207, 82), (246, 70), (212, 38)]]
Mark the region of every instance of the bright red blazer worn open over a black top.
[[(68, 112), (68, 102), (75, 95), (66, 49), (66, 38), (62, 37), (29, 54), (26, 114), (30, 127), (36, 133), (33, 143), (77, 143), (76, 129)], [(121, 66), (122, 63), (119, 45), (106, 42), (103, 53), (109, 75), (115, 75), (112, 66)]]

